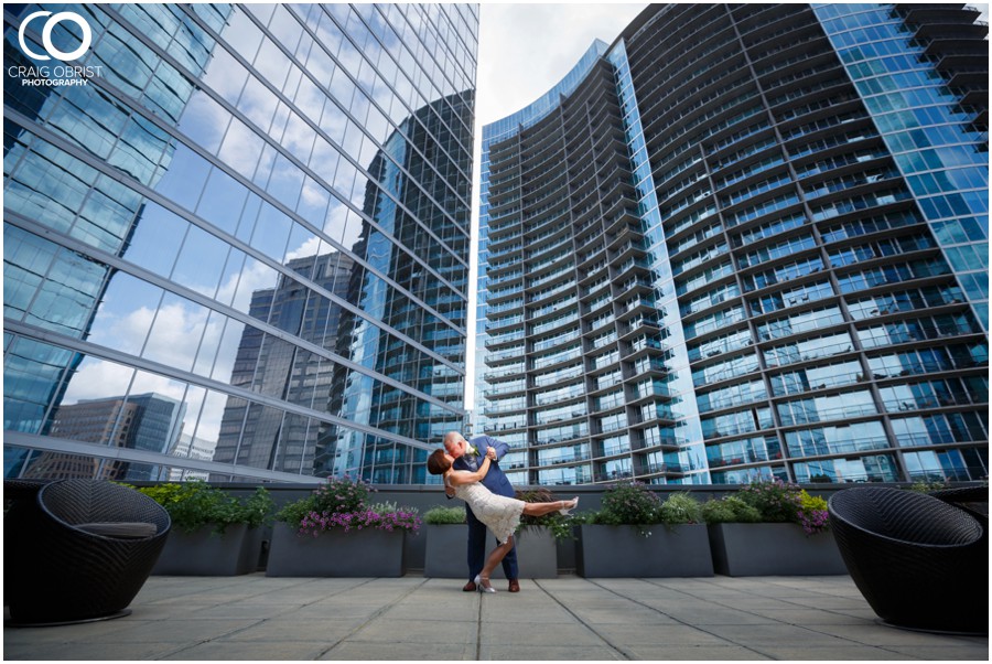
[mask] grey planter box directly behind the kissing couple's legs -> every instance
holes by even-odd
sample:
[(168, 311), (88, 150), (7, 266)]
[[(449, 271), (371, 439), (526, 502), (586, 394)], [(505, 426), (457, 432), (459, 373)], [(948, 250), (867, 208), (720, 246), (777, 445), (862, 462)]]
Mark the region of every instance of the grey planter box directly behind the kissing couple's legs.
[[(468, 526), (428, 524), (425, 535), (423, 576), (435, 579), (467, 578)], [(516, 540), (521, 579), (553, 579), (558, 576), (558, 544), (548, 528), (526, 528), (517, 533)], [(495, 546), (496, 538), (487, 536), (486, 551)], [(502, 565), (496, 567), (493, 578), (506, 578)]]

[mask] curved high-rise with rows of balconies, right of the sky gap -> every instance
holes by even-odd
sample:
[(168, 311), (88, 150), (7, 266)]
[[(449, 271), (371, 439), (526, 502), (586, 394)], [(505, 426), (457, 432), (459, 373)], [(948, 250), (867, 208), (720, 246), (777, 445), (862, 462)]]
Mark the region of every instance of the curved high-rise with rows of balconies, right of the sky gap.
[(988, 476), (988, 26), (651, 6), (483, 128), (513, 480)]

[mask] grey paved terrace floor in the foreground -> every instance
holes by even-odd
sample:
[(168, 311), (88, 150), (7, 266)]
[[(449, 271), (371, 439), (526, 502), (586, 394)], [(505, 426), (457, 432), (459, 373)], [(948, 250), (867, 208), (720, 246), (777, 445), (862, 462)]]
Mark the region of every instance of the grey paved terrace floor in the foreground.
[[(3, 630), (4, 660), (989, 660), (877, 624), (850, 577), (152, 577), (127, 618)], [(979, 596), (980, 601), (984, 597)]]

